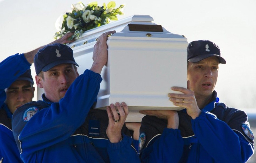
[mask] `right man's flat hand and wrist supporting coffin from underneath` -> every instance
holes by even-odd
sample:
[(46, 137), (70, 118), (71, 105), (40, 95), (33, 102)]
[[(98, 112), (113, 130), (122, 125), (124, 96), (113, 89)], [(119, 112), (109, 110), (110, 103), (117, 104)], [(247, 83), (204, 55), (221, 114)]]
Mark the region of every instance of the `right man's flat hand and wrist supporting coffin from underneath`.
[(141, 110), (139, 113), (167, 119), (167, 128), (178, 129), (179, 127), (179, 116), (175, 110)]

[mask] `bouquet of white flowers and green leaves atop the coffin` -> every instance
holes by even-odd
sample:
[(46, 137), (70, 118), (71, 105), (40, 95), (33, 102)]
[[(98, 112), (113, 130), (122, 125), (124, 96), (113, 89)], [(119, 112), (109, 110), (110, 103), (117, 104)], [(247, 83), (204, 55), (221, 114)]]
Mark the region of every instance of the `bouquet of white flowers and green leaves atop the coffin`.
[(73, 32), (69, 39), (78, 39), (83, 32), (105, 24), (110, 20), (118, 20), (117, 15), (124, 15), (123, 8), (125, 5), (120, 5), (115, 8), (115, 2), (111, 1), (103, 6), (98, 6), (97, 2), (91, 2), (85, 6), (82, 2), (72, 4), (72, 11), (66, 12), (63, 15), (61, 30), (56, 32), (54, 39), (61, 38), (67, 32)]

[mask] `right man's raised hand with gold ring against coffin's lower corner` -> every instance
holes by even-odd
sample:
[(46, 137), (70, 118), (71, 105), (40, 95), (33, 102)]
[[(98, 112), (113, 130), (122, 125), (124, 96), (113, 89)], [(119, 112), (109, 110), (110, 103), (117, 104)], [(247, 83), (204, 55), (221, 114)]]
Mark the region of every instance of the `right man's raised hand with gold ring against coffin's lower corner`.
[(173, 102), (175, 106), (179, 106), (187, 109), (187, 114), (192, 117), (192, 119), (197, 118), (201, 110), (197, 106), (197, 100), (195, 99), (195, 94), (193, 91), (189, 90), (189, 81), (188, 81), (188, 89), (183, 87), (171, 87), (171, 90), (179, 91), (184, 94), (177, 93), (169, 93), (168, 97), (170, 101)]

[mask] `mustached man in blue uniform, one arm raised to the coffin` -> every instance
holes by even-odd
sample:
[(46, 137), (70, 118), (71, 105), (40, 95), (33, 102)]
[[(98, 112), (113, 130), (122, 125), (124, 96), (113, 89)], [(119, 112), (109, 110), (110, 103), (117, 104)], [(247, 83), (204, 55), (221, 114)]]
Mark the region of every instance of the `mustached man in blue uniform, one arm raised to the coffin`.
[[(128, 107), (90, 109), (107, 62), (107, 36), (95, 44), (93, 65), (81, 75), (70, 47), (46, 46), (34, 58), (36, 83), (43, 101), (31, 102), (13, 115), (13, 132), (24, 162), (140, 162), (124, 126)], [(75, 66), (76, 65), (76, 66)]]

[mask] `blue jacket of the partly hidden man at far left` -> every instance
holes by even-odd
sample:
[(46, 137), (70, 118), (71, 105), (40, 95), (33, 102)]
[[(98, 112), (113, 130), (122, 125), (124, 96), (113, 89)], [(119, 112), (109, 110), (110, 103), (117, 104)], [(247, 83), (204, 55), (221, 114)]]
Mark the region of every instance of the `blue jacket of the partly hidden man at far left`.
[(5, 88), (10, 87), (21, 74), (30, 69), (24, 54), (9, 56), (0, 63), (0, 160), (2, 163), (19, 163), (21, 160), (17, 144), (11, 128), (12, 114), (4, 103), (6, 99)]

